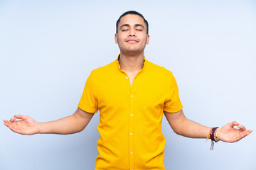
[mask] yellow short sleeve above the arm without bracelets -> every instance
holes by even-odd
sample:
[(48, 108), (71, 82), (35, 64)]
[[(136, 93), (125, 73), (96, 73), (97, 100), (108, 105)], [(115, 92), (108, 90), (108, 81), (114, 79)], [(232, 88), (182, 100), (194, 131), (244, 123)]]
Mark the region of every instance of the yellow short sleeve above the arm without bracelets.
[(97, 98), (92, 85), (92, 74), (87, 78), (84, 91), (78, 103), (78, 108), (88, 113), (96, 113), (98, 111)]

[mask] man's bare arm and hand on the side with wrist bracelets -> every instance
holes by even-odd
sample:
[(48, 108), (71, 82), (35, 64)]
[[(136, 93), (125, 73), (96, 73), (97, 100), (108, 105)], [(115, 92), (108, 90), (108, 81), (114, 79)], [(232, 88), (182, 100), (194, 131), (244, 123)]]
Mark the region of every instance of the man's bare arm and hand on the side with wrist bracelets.
[[(211, 130), (209, 127), (187, 119), (182, 110), (176, 113), (164, 112), (164, 115), (174, 132), (184, 137), (206, 138)], [(234, 126), (237, 126), (239, 129), (233, 128)], [(223, 142), (237, 142), (251, 132), (252, 130), (246, 130), (243, 125), (239, 125), (234, 121), (220, 128), (217, 137)]]

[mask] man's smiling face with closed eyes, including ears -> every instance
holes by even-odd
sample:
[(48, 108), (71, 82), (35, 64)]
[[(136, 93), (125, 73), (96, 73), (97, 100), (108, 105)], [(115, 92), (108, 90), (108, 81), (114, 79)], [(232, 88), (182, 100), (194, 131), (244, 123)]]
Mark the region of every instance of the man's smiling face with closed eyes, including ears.
[(123, 16), (117, 29), (114, 40), (123, 54), (136, 55), (144, 52), (149, 43), (149, 34), (146, 34), (146, 24), (141, 16)]

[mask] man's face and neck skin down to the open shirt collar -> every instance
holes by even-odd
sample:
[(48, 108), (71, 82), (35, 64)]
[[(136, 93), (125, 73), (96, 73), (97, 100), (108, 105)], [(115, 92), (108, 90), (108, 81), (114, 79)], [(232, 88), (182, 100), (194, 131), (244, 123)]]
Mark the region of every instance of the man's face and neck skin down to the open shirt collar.
[(144, 49), (149, 44), (143, 18), (131, 14), (122, 17), (114, 40), (120, 49), (120, 66), (127, 73), (132, 87), (134, 77), (143, 67)]

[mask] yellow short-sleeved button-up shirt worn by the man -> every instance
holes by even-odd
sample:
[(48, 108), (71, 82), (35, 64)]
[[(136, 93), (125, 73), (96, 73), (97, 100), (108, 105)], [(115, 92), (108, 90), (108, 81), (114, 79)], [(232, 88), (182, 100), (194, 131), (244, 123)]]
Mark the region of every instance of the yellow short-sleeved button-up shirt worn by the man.
[(118, 60), (91, 72), (78, 107), (100, 111), (96, 170), (164, 170), (163, 111), (181, 111), (173, 74), (144, 59), (134, 78)]

